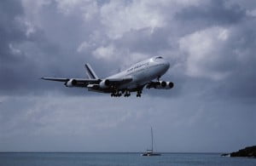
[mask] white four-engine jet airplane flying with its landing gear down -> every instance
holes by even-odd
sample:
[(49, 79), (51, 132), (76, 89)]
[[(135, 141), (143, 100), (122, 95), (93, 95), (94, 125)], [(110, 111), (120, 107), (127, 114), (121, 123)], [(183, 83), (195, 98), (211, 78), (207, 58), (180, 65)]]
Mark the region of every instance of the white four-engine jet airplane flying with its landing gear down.
[(141, 97), (145, 86), (146, 89), (172, 89), (174, 86), (172, 82), (160, 81), (160, 77), (170, 67), (170, 63), (162, 56), (143, 60), (123, 72), (103, 79), (97, 77), (90, 64), (87, 63), (84, 67), (88, 76), (85, 79), (60, 77), (41, 77), (41, 79), (63, 82), (69, 88), (87, 88), (89, 91), (109, 93), (111, 97), (120, 97), (122, 94), (129, 97), (131, 92), (137, 92), (137, 97)]

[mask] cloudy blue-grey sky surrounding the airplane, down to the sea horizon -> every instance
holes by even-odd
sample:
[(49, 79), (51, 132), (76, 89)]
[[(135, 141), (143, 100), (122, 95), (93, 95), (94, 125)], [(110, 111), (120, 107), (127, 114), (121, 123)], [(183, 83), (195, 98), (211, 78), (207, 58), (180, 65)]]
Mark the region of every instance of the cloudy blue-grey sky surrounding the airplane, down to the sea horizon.
[[(0, 152), (233, 152), (256, 145), (255, 0), (2, 0)], [(99, 77), (161, 55), (171, 90), (111, 98)]]

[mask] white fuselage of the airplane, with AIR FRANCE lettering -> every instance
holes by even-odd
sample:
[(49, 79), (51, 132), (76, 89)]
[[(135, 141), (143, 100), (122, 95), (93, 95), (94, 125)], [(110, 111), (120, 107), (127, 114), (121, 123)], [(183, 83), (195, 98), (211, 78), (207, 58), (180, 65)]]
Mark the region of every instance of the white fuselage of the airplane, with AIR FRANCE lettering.
[(140, 85), (151, 82), (155, 78), (161, 77), (169, 69), (170, 63), (162, 58), (153, 57), (148, 60), (143, 60), (129, 67), (123, 72), (119, 72), (108, 78), (123, 78), (131, 77), (130, 83), (125, 83), (119, 89), (134, 89)]

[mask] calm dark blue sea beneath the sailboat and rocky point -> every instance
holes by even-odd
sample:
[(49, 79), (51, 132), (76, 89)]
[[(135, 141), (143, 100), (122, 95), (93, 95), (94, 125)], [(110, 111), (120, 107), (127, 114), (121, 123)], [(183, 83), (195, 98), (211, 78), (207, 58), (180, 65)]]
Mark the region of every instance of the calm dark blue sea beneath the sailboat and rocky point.
[(220, 157), (219, 153), (163, 153), (159, 157), (141, 157), (125, 152), (1, 152), (0, 166), (179, 166), (230, 165), (256, 166), (256, 158)]

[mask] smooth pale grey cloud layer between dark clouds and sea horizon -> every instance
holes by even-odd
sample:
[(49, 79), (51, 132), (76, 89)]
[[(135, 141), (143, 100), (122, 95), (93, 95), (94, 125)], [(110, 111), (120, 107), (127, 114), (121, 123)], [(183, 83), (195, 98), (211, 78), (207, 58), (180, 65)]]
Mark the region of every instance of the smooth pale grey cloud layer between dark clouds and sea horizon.
[[(139, 152), (149, 145), (145, 140), (150, 125), (161, 152), (223, 152), (253, 143), (254, 106), (224, 100), (201, 104), (193, 96), (152, 100), (145, 95), (140, 103), (136, 97), (118, 102), (104, 96), (61, 94), (10, 97), (1, 111), (5, 118), (0, 121), (5, 134), (0, 136), (1, 150)], [(13, 102), (20, 108), (10, 105)], [(32, 146), (25, 148), (27, 144)]]

